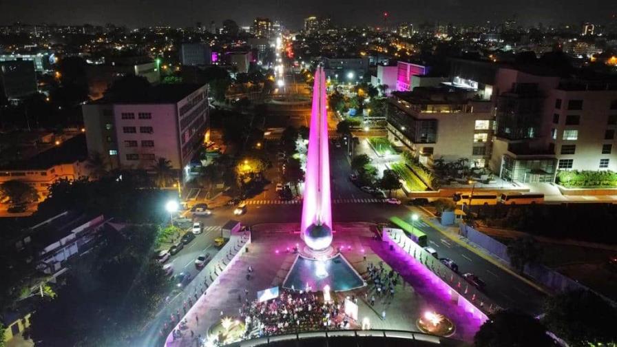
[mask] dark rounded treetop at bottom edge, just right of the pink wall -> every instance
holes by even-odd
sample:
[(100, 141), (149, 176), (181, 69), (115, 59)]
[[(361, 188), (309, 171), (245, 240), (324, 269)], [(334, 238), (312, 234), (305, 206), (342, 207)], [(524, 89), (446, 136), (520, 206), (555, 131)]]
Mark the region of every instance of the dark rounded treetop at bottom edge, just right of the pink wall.
[(475, 347), (549, 347), (552, 341), (546, 328), (530, 315), (499, 311), (489, 315), (474, 336)]

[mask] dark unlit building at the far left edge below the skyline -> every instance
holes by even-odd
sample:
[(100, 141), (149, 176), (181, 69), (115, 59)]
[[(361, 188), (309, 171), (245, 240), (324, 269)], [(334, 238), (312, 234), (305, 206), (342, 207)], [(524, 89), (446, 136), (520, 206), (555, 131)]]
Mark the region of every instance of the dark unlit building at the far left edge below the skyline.
[(0, 62), (0, 98), (17, 100), (37, 92), (33, 61)]

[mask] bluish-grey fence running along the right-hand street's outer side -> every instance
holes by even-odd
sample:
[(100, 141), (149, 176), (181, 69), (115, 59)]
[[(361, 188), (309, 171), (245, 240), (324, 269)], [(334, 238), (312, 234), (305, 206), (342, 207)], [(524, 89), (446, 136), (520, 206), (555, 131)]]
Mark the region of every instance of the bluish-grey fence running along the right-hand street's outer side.
[[(508, 246), (505, 246), (505, 244), (502, 244), (494, 238), (491, 238), (490, 236), (485, 235), (466, 224), (461, 224), (461, 235), (468, 238), (468, 240), (474, 244), (477, 244), (481, 248), (485, 249), (494, 255), (494, 257), (499, 258), (499, 260), (502, 260), (506, 264), (510, 264), (510, 257), (508, 257)], [(561, 273), (558, 273), (557, 271), (554, 271), (542, 264), (527, 264), (523, 273), (556, 293), (576, 291), (580, 289), (596, 293), (587, 286), (584, 286), (583, 284), (572, 280), (572, 278), (562, 275)], [(613, 306), (617, 305), (616, 302), (605, 297), (604, 295), (601, 295), (600, 293), (596, 294), (603, 297)]]

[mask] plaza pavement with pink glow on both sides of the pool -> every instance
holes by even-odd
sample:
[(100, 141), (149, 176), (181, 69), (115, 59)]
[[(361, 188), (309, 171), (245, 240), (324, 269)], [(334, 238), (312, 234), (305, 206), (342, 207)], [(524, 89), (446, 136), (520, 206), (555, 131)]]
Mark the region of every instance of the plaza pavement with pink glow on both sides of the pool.
[[(286, 247), (293, 248), (296, 243), (302, 242), (299, 234), (290, 232), (290, 225), (286, 227), (277, 228), (275, 224), (253, 227), (252, 243), (249, 244), (248, 251), (229, 266), (220, 277), (219, 284), (211, 286), (190, 308), (185, 315), (187, 328), (182, 330), (182, 337), (175, 341), (168, 339), (168, 347), (198, 346), (197, 337), (205, 338), (209, 327), (218, 323), (221, 317), (238, 317), (239, 308), (247, 298), (245, 289), (249, 291), (248, 299), (253, 300), (257, 291), (282, 285), (296, 256), (287, 253)], [(368, 262), (377, 265), (380, 260), (384, 260), (386, 271), (392, 266), (404, 281), (397, 284), (393, 299), (389, 296), (380, 298), (371, 284), (356, 291), (337, 293), (337, 297), (342, 299), (344, 295), (355, 295), (358, 298), (359, 320), (362, 322), (364, 317), (368, 317), (371, 328), (418, 331), (415, 325), (417, 318), (430, 310), (446, 315), (457, 325), (453, 338), (472, 341), (479, 328), (479, 321), (465, 313), (456, 303), (444, 301), (433, 291), (428, 279), (412, 272), (408, 264), (392, 256), (386, 243), (375, 240), (374, 228), (373, 225), (364, 223), (335, 223), (337, 232), (333, 246), (343, 249), (343, 255), (365, 279)], [(350, 246), (351, 249), (348, 249)], [(253, 273), (251, 279), (247, 280), (249, 265), (253, 268)], [(368, 300), (375, 295), (375, 306), (370, 306), (368, 300), (365, 301), (366, 291)], [(386, 319), (381, 319), (382, 311), (386, 311)]]

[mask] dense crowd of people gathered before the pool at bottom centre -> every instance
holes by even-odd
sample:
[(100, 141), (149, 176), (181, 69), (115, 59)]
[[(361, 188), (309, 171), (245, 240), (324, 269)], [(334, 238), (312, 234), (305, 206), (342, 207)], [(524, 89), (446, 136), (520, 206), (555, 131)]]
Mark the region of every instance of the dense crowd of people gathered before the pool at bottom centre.
[(242, 305), (240, 314), (247, 326), (244, 338), (349, 328), (342, 305), (334, 300), (324, 302), (321, 296), (315, 292), (282, 289), (275, 299)]

